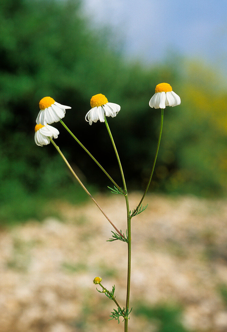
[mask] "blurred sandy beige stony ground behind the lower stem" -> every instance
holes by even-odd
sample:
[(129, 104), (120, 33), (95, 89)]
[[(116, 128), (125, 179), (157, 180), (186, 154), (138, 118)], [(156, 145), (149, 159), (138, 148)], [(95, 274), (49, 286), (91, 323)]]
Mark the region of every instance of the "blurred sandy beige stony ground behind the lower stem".
[[(131, 208), (141, 198), (130, 195)], [(97, 196), (106, 214), (126, 230), (124, 198)], [(227, 202), (149, 195), (132, 219), (131, 305), (181, 305), (189, 331), (227, 331)], [(124, 306), (127, 246), (106, 242), (112, 226), (92, 202), (54, 202), (61, 216), (0, 232), (1, 332), (123, 331), (108, 321), (114, 303), (92, 280), (116, 286)], [(129, 331), (158, 331), (131, 313)]]

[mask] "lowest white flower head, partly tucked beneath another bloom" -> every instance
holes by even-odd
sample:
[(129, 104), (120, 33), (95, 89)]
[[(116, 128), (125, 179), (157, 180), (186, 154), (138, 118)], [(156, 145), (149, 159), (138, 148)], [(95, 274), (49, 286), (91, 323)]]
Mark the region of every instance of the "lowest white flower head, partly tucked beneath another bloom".
[(36, 124), (35, 126), (35, 144), (39, 146), (47, 145), (50, 143), (50, 138), (57, 138), (59, 135), (58, 129), (51, 125)]

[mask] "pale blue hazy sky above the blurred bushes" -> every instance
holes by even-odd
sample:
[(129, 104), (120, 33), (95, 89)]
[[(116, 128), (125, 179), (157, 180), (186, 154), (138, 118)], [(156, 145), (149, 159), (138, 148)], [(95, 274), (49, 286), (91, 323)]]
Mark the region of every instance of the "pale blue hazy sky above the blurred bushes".
[(173, 51), (227, 68), (227, 1), (83, 1), (96, 26), (120, 32), (129, 56), (153, 62)]

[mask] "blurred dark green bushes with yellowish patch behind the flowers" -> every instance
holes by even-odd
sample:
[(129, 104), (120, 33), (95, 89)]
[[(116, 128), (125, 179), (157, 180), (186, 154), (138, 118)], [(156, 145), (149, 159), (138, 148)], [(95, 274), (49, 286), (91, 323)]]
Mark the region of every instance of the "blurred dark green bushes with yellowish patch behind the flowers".
[[(157, 144), (160, 110), (150, 109), (156, 84), (168, 82), (181, 97), (164, 111), (163, 136), (151, 191), (225, 195), (227, 188), (226, 81), (202, 61), (169, 54), (145, 66), (129, 61), (122, 41), (96, 29), (77, 1), (2, 0), (0, 3), (0, 222), (42, 218), (55, 199), (83, 202), (53, 146), (34, 143), (39, 100), (51, 96), (69, 105), (64, 122), (121, 185), (104, 124), (89, 126), (91, 96), (121, 105), (109, 125), (126, 181), (142, 190)], [(96, 190), (109, 180), (61, 124), (57, 144), (81, 179)]]

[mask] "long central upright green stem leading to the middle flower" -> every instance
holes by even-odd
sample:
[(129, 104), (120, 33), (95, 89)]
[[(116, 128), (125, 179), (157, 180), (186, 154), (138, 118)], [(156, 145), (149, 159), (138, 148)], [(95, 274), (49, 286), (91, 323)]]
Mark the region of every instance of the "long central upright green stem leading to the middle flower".
[[(126, 183), (125, 183), (125, 177), (124, 177), (124, 173), (123, 173), (123, 169), (121, 166), (121, 161), (117, 152), (117, 148), (116, 145), (114, 143), (114, 139), (113, 136), (111, 134), (109, 125), (107, 123), (106, 117), (105, 117), (105, 124), (106, 124), (106, 128), (107, 131), (109, 133), (111, 142), (113, 144), (113, 148), (117, 157), (117, 161), (120, 167), (120, 171), (121, 171), (121, 177), (122, 177), (122, 181), (123, 181), (123, 185), (124, 185), (124, 191), (125, 191), (125, 202), (126, 202), (126, 208), (127, 208), (127, 228), (128, 228), (128, 273), (127, 273), (127, 293), (126, 293), (126, 305), (125, 308), (126, 310), (129, 309), (129, 297), (130, 297), (130, 282), (131, 282), (131, 216), (130, 216), (130, 210), (129, 210), (129, 198), (128, 198), (128, 192), (127, 192), (127, 188), (126, 188)], [(128, 318), (125, 318), (125, 332), (128, 331)]]

